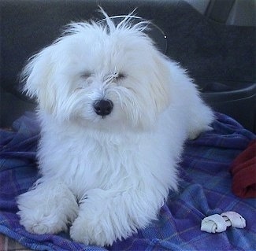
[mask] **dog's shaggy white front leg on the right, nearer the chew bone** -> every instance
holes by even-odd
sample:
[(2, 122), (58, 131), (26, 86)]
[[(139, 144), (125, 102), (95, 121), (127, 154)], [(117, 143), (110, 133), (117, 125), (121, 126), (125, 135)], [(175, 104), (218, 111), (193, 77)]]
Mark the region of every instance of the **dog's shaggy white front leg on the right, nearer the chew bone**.
[(71, 238), (84, 244), (112, 245), (157, 219), (164, 197), (160, 196), (157, 201), (156, 197), (151, 197), (154, 196), (152, 191), (148, 193), (148, 187), (137, 188), (122, 192), (88, 191), (80, 205), (79, 216), (70, 228)]

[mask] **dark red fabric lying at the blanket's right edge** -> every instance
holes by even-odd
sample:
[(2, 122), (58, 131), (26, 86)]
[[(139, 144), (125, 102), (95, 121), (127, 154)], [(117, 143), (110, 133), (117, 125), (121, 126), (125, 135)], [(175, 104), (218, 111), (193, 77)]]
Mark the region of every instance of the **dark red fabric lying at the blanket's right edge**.
[(256, 197), (256, 139), (232, 162), (232, 191), (239, 197)]

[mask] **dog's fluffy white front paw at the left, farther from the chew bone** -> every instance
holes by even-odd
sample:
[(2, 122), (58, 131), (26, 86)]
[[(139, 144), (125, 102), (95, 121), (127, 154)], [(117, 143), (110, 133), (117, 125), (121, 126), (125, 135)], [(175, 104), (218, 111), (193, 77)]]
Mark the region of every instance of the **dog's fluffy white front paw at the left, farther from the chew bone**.
[(35, 234), (66, 231), (78, 212), (76, 197), (68, 186), (47, 181), (17, 197), (20, 224)]

